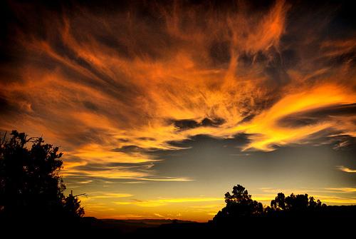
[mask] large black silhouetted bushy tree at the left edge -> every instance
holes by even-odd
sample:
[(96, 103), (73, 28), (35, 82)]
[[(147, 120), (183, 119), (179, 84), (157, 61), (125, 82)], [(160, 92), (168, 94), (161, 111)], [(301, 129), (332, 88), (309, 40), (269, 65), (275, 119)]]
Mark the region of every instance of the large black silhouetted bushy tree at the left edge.
[[(28, 146), (30, 145), (30, 146)], [(12, 131), (0, 140), (0, 215), (3, 218), (80, 218), (77, 197), (63, 192), (62, 153), (43, 138)]]

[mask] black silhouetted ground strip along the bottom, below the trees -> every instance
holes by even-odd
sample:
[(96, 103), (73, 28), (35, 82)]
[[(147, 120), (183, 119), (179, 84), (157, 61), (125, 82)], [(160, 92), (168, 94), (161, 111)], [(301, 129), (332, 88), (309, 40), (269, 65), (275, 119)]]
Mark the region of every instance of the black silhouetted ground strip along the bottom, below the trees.
[(327, 206), (321, 213), (241, 217), (234, 221), (197, 223), (185, 220), (115, 220), (91, 217), (77, 222), (8, 220), (1, 238), (244, 238), (291, 236), (354, 238), (356, 205)]

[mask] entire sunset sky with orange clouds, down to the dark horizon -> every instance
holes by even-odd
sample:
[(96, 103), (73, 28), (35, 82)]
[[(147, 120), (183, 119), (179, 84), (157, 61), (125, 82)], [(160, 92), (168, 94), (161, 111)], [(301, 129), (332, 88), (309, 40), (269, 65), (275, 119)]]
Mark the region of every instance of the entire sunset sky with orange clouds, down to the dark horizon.
[(86, 216), (356, 204), (351, 1), (48, 2), (1, 3), (0, 131), (60, 146)]

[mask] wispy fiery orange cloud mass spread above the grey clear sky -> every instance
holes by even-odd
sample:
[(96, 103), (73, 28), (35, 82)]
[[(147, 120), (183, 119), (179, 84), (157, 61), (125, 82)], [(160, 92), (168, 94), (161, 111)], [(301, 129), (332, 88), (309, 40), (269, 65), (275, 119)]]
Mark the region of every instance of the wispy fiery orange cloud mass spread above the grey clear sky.
[[(159, 161), (150, 152), (182, 149), (172, 141), (200, 134), (246, 133), (244, 150), (258, 151), (308, 143), (325, 130), (330, 137), (356, 136), (350, 113), (283, 123), (356, 103), (355, 36), (325, 38), (320, 29), (328, 21), (314, 15), (315, 24), (305, 24), (308, 16), (290, 23), (295, 9), (285, 1), (262, 9), (248, 1), (222, 9), (180, 1), (110, 13), (44, 9), (41, 27), (28, 9), (14, 4), (27, 29), (14, 26), (15, 47), (7, 51), (19, 59), (0, 68), (0, 129), (43, 135), (61, 146), (65, 177), (191, 182), (157, 176)], [(194, 127), (174, 124), (182, 120)]]

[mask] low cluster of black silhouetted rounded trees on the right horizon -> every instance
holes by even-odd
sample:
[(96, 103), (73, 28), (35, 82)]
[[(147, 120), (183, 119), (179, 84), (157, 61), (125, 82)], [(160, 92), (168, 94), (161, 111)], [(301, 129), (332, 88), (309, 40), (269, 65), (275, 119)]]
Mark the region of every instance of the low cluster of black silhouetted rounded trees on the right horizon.
[(222, 208), (214, 217), (215, 222), (234, 221), (241, 218), (256, 217), (283, 217), (290, 215), (306, 215), (316, 213), (326, 208), (320, 200), (308, 197), (308, 194), (293, 193), (286, 197), (283, 193), (278, 193), (271, 206), (263, 207), (262, 203), (252, 200), (242, 185), (234, 186), (231, 193), (225, 194), (226, 206)]

